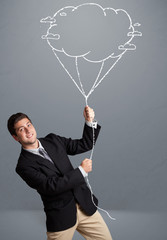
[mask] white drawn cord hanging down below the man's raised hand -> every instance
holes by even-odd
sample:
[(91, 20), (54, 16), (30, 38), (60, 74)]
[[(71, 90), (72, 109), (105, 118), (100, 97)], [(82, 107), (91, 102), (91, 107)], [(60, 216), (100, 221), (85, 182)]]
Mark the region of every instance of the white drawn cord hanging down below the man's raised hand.
[[(90, 155), (90, 159), (91, 159), (91, 160), (92, 160), (93, 152), (94, 152), (94, 148), (95, 148), (95, 126), (93, 125), (93, 123), (92, 123), (92, 132), (93, 132), (93, 147), (92, 147), (91, 155)], [(88, 179), (88, 177), (86, 177), (85, 179), (86, 179), (86, 182), (87, 182), (87, 186), (88, 186), (89, 189), (90, 189), (91, 199), (92, 199), (92, 202), (93, 202), (93, 204), (95, 205), (95, 207), (97, 207), (97, 209), (105, 212), (111, 220), (116, 220), (115, 218), (111, 217), (111, 215), (110, 215), (106, 210), (104, 210), (103, 208), (100, 208), (100, 207), (98, 207), (98, 206), (96, 205), (96, 203), (94, 202), (94, 199), (93, 199), (93, 191), (92, 191), (92, 187), (91, 187), (91, 185), (90, 185), (90, 183), (89, 183), (89, 179)]]

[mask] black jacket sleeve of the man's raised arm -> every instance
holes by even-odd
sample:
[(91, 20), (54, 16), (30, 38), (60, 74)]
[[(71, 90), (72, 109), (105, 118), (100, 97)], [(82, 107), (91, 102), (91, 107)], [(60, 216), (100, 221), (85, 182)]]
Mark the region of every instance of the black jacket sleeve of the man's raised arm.
[[(94, 136), (93, 136), (92, 127), (89, 127), (85, 124), (81, 139), (71, 139), (71, 138), (64, 138), (60, 136), (58, 136), (58, 138), (59, 138), (59, 141), (61, 141), (61, 144), (64, 145), (68, 155), (76, 155), (76, 154), (87, 152), (92, 149), (93, 137), (95, 138), (94, 140), (96, 142), (100, 129), (101, 129), (101, 126), (97, 125), (97, 129), (94, 129)], [(52, 141), (54, 141), (54, 135), (53, 135)]]

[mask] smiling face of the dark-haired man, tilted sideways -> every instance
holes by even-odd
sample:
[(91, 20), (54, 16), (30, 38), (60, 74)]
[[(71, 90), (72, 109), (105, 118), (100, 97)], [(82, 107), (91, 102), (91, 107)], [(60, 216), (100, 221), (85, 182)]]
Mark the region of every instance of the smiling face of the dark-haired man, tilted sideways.
[(14, 139), (26, 149), (33, 149), (38, 147), (37, 133), (28, 118), (23, 118), (18, 121), (15, 125), (16, 136), (13, 135)]

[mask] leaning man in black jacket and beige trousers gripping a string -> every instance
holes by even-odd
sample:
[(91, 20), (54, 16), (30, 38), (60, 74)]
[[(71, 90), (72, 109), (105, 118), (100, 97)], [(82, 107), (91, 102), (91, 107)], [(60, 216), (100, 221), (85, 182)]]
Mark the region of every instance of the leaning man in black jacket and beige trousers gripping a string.
[[(92, 160), (84, 159), (74, 169), (68, 158), (92, 148), (94, 116), (93, 109), (86, 106), (83, 135), (75, 140), (53, 133), (38, 139), (30, 118), (23, 113), (13, 114), (8, 120), (9, 132), (22, 146), (16, 172), (41, 196), (48, 240), (72, 240), (75, 230), (87, 240), (112, 239), (85, 182), (92, 171)], [(100, 126), (93, 125), (96, 141)], [(93, 200), (97, 204), (95, 196)]]

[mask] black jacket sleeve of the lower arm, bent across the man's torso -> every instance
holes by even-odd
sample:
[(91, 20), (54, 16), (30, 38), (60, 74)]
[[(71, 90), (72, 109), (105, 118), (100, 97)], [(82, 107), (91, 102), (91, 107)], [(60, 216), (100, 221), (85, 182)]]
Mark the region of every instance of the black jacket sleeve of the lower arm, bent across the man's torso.
[(61, 194), (85, 183), (84, 177), (78, 168), (61, 177), (55, 175), (47, 177), (32, 166), (17, 166), (16, 172), (31, 188), (46, 195)]

